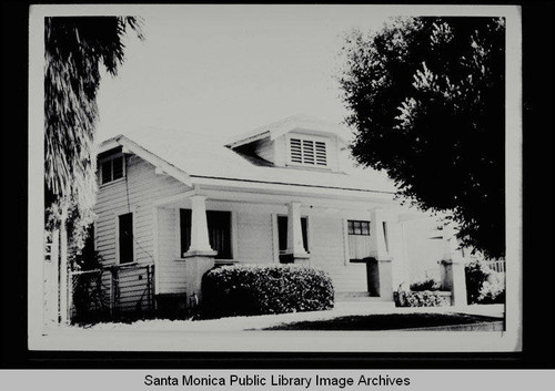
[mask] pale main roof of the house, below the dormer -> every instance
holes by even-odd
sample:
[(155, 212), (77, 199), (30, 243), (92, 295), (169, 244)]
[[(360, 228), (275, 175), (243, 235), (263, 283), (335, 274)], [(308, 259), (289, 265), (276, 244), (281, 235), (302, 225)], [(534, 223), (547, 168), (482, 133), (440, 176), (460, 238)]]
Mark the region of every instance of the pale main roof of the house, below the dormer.
[(339, 173), (260, 164), (222, 145), (218, 135), (145, 127), (132, 136), (119, 135), (103, 142), (98, 153), (120, 145), (189, 186), (195, 178), (213, 178), (377, 193), (396, 191), (385, 173), (371, 168), (353, 167)]

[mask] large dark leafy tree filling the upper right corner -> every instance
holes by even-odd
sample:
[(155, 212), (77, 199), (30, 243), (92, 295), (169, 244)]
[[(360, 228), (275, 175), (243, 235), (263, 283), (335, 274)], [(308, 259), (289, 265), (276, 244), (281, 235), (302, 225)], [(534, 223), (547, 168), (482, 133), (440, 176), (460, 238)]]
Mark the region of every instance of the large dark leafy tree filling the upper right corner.
[(394, 19), (349, 34), (340, 76), (356, 161), (486, 257), (505, 254), (504, 42), (503, 18)]

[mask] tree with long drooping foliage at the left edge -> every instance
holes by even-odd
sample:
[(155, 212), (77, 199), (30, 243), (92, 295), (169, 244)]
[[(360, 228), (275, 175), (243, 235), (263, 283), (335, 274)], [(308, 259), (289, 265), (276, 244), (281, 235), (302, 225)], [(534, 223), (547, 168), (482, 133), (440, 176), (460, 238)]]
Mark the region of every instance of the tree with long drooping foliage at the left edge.
[(92, 222), (95, 162), (91, 157), (98, 120), (101, 65), (117, 75), (124, 59), (123, 37), (133, 17), (52, 17), (44, 19), (44, 196), (47, 228), (67, 208), (69, 236), (78, 247)]

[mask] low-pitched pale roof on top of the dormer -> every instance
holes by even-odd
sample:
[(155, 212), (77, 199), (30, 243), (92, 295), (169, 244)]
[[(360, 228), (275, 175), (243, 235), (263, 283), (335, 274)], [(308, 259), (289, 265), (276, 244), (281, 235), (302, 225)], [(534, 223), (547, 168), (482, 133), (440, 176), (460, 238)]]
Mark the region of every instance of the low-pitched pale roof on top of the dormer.
[(310, 116), (295, 115), (290, 116), (285, 120), (274, 122), (270, 125), (256, 127), (253, 131), (236, 135), (228, 140), (225, 146), (230, 148), (235, 148), (241, 145), (250, 144), (256, 140), (270, 137), (270, 140), (275, 140), (281, 135), (294, 131), (304, 130), (316, 133), (329, 133), (336, 135), (343, 143), (347, 143), (350, 134), (345, 127), (339, 124), (324, 122)]

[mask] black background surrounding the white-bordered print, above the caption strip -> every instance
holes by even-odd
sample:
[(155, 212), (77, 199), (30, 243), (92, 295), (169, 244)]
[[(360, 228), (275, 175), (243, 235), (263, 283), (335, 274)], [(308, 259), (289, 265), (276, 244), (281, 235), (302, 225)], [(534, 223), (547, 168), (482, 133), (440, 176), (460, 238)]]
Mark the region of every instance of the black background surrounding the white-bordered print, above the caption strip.
[[(74, 3), (74, 2), (73, 2)], [(112, 2), (111, 2), (112, 3)], [(383, 3), (383, 2), (381, 2)], [(426, 1), (426, 3), (434, 3)], [(480, 3), (474, 1), (473, 3)], [(487, 4), (495, 4), (488, 1)], [(502, 4), (502, 3), (498, 3)], [(504, 3), (507, 4), (507, 3)], [(518, 4), (518, 3), (512, 3)], [(2, 3), (0, 369), (555, 369), (553, 21), (522, 4), (524, 84), (524, 336), (514, 353), (54, 352), (27, 349), (29, 3)]]

